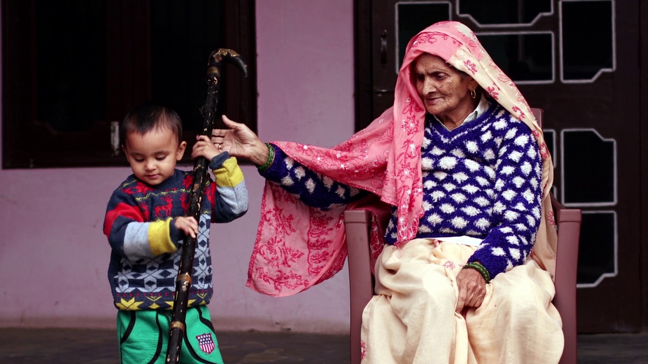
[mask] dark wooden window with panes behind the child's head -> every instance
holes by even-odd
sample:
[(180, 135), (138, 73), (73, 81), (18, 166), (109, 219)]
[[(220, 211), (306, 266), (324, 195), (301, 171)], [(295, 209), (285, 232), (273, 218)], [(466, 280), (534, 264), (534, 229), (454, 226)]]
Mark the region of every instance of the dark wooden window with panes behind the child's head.
[(2, 0), (3, 168), (127, 165), (111, 130), (145, 100), (178, 112), (191, 148), (220, 47), (249, 78), (224, 65), (218, 113), (255, 130), (254, 4)]

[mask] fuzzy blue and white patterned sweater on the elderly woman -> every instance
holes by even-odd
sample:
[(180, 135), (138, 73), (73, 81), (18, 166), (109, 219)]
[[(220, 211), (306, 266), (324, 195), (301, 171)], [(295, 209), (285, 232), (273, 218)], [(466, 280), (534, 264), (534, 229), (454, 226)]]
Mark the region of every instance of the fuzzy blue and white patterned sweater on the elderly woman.
[[(260, 174), (311, 207), (326, 210), (369, 193), (316, 174), (273, 148), (275, 161)], [(542, 161), (529, 127), (496, 102), (452, 131), (427, 115), (421, 152), (424, 215), (416, 237), (483, 239), (469, 262), (481, 262), (491, 277), (523, 264), (542, 202)], [(396, 222), (393, 207), (387, 244), (396, 241)]]

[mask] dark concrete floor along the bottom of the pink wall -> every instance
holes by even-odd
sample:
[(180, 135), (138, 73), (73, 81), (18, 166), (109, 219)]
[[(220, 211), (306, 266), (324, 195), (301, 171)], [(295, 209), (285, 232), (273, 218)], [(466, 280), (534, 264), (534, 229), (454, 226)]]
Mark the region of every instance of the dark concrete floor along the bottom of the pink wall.
[[(225, 363), (349, 363), (349, 336), (220, 332)], [(580, 335), (579, 364), (648, 364), (648, 333)], [(0, 328), (2, 364), (119, 363), (115, 330)]]

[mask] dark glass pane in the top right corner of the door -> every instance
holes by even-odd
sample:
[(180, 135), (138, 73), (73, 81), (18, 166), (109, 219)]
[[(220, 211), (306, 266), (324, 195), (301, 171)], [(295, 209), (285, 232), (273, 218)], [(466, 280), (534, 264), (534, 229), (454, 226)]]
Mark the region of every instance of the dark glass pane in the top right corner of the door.
[(612, 1), (562, 1), (561, 6), (562, 79), (592, 80), (601, 69), (613, 69)]

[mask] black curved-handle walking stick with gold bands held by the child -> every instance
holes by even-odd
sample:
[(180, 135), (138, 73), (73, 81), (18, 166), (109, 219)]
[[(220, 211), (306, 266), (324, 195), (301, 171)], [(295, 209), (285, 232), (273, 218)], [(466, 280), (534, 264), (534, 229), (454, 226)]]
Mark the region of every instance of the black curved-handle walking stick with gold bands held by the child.
[[(231, 49), (218, 49), (218, 51), (209, 54), (209, 60), (207, 60), (207, 97), (202, 108), (202, 130), (200, 135), (207, 135), (210, 138), (211, 131), (214, 128), (214, 118), (216, 117), (222, 60), (233, 63), (243, 72), (244, 76), (248, 76), (246, 64), (241, 60), (237, 52)], [(207, 166), (209, 166), (209, 163), (210, 161), (207, 161), (205, 157), (198, 157), (194, 161), (193, 187), (189, 195), (187, 216), (193, 216), (197, 222), (200, 221), (200, 203), (203, 198), (203, 190), (205, 190), (205, 183), (209, 180), (207, 178)], [(173, 317), (168, 336), (167, 363), (178, 363), (180, 360), (180, 348), (182, 347), (182, 339), (185, 336), (185, 318), (187, 316), (195, 250), (196, 238), (189, 235), (185, 236), (178, 268), (178, 279), (176, 280), (176, 297), (173, 300)]]

